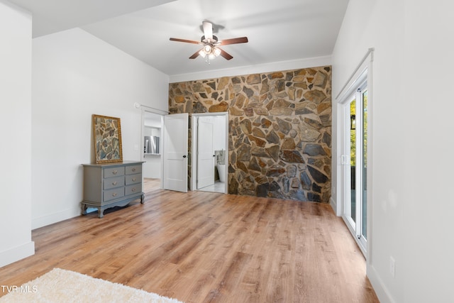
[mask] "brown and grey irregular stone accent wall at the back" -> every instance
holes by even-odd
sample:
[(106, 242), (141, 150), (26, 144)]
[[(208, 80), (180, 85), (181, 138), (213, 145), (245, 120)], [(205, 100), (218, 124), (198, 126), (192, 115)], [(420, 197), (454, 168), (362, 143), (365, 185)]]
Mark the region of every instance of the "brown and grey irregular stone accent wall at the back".
[(172, 83), (169, 109), (228, 111), (229, 194), (331, 197), (330, 66)]

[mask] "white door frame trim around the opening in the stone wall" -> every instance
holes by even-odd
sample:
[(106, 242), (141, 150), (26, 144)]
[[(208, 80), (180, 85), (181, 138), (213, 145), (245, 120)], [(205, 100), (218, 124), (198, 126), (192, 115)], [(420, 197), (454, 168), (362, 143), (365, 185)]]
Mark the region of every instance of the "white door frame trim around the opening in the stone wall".
[(197, 117), (200, 116), (226, 116), (226, 172), (225, 172), (225, 187), (224, 187), (224, 193), (228, 193), (228, 112), (223, 111), (221, 113), (203, 113), (203, 114), (192, 114), (192, 123), (191, 123), (191, 133), (192, 133), (192, 145), (191, 145), (191, 150), (192, 150), (192, 157), (191, 157), (191, 182), (189, 183), (189, 189), (190, 190), (196, 190), (197, 185), (196, 185), (196, 169), (197, 169), (197, 160), (196, 160), (196, 152), (197, 152)]

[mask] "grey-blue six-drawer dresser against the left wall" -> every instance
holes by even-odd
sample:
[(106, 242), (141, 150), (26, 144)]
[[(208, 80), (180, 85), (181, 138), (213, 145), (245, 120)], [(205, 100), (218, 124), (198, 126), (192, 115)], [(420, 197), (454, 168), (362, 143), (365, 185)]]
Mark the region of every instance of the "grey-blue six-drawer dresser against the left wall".
[(84, 199), (82, 214), (87, 209), (98, 209), (98, 216), (114, 206), (126, 206), (135, 199), (143, 204), (142, 161), (123, 161), (104, 164), (83, 164)]

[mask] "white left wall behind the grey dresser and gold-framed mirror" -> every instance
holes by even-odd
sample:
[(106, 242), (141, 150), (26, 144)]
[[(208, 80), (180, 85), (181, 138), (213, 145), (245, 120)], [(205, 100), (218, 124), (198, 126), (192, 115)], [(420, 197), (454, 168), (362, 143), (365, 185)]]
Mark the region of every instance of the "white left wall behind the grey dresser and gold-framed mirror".
[(92, 114), (121, 119), (123, 160), (143, 153), (143, 104), (167, 110), (168, 76), (74, 28), (33, 39), (32, 228), (80, 214)]

